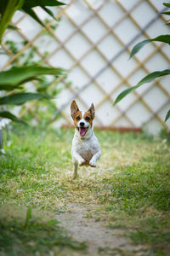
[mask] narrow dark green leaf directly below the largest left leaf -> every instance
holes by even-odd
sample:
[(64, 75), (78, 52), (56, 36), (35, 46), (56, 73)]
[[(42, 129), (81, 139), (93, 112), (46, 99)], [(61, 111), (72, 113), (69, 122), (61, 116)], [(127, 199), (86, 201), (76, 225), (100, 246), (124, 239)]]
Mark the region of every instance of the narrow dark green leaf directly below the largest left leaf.
[(13, 95), (4, 96), (0, 98), (0, 105), (12, 104), (21, 105), (28, 101), (39, 100), (42, 98), (49, 98), (49, 96), (43, 95), (41, 93), (23, 92), (15, 93)]

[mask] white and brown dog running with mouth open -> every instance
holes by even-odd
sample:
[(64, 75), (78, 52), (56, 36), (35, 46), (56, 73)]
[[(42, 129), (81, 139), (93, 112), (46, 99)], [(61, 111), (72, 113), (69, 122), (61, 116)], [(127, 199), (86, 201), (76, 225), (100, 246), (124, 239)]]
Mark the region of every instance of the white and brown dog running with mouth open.
[(77, 177), (78, 166), (96, 166), (101, 155), (99, 142), (94, 135), (94, 104), (86, 112), (77, 107), (77, 102), (71, 102), (71, 117), (75, 125), (75, 135), (72, 140), (72, 161), (74, 164), (73, 179)]

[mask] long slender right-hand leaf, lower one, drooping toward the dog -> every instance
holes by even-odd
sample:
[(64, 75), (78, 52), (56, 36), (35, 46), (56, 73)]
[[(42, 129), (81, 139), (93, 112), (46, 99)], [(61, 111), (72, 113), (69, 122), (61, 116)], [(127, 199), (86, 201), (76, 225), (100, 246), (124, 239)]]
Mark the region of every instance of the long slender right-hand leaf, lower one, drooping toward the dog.
[(141, 79), (138, 84), (136, 84), (133, 87), (128, 88), (127, 90), (123, 90), (117, 97), (116, 101), (114, 102), (113, 106), (116, 105), (116, 103), (120, 102), (127, 94), (129, 94), (131, 91), (137, 89), (139, 86), (145, 83), (150, 83), (154, 79), (160, 78), (161, 76), (166, 76), (170, 74), (170, 69), (165, 69), (162, 71), (156, 71), (153, 73), (148, 74), (147, 76), (144, 77), (144, 79)]

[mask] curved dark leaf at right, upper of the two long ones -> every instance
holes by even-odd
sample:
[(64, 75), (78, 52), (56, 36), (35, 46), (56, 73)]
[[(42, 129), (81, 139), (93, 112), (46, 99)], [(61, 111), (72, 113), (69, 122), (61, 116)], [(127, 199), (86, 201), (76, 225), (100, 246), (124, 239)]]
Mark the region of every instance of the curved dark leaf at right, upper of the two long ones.
[(147, 39), (147, 40), (144, 40), (142, 42), (140, 42), (139, 44), (136, 44), (133, 49), (132, 49), (132, 52), (130, 54), (130, 58), (133, 57), (133, 55), (135, 55), (136, 53), (139, 52), (139, 49), (141, 49), (142, 47), (144, 47), (145, 44), (148, 44), (152, 41), (156, 41), (156, 42), (164, 42), (164, 43), (167, 43), (167, 44), (170, 44), (170, 35), (161, 35), (159, 37), (156, 37), (156, 38), (152, 38), (152, 39)]

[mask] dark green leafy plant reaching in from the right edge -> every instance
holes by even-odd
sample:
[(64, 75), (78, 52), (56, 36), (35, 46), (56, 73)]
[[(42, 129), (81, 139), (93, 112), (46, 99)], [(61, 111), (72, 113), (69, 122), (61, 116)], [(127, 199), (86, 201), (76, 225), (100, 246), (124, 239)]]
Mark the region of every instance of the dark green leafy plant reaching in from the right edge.
[[(164, 6), (166, 6), (167, 8), (170, 8), (170, 3), (163, 3)], [(163, 12), (163, 15), (170, 15), (170, 12)], [(169, 21), (169, 20), (168, 20)], [(170, 22), (167, 22), (167, 26), (170, 26)], [(152, 38), (152, 39), (148, 39), (148, 40), (144, 40), (142, 42), (139, 42), (139, 44), (136, 44), (131, 52), (130, 58), (133, 57), (133, 55), (137, 54), (139, 52), (140, 49), (142, 49), (144, 47), (145, 44), (149, 44), (152, 41), (156, 41), (156, 42), (164, 42), (166, 44), (170, 44), (170, 35), (160, 35), (156, 38)], [(116, 105), (116, 103), (120, 102), (125, 96), (127, 96), (131, 91), (139, 88), (139, 86), (145, 84), (145, 83), (150, 83), (151, 81), (153, 81), (154, 79), (160, 78), (161, 76), (166, 76), (166, 75), (170, 75), (170, 69), (165, 69), (162, 71), (156, 71), (153, 73), (150, 73), (148, 75), (146, 75), (144, 77), (144, 79), (141, 79), (139, 81), (138, 84), (134, 85), (133, 87), (128, 88), (127, 90), (123, 90), (117, 97), (116, 97), (116, 101), (114, 102), (114, 106)], [(165, 122), (167, 121), (167, 119), (170, 118), (170, 109), (167, 112), (167, 115), (165, 117)]]

